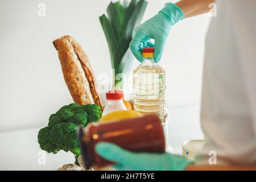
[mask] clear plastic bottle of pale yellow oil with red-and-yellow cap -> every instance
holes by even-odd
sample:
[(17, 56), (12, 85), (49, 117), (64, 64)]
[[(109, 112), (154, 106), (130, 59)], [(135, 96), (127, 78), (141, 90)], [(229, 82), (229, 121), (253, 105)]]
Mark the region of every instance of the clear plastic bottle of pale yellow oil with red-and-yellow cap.
[(153, 59), (154, 48), (143, 48), (142, 56), (144, 60), (133, 71), (134, 109), (157, 114), (164, 122), (166, 73)]

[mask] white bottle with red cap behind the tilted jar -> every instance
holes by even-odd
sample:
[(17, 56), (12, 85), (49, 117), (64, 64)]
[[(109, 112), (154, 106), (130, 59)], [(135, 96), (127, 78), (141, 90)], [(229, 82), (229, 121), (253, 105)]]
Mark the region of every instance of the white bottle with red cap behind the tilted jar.
[(110, 90), (106, 92), (106, 100), (107, 103), (102, 116), (115, 110), (127, 110), (123, 103), (123, 92), (121, 90)]

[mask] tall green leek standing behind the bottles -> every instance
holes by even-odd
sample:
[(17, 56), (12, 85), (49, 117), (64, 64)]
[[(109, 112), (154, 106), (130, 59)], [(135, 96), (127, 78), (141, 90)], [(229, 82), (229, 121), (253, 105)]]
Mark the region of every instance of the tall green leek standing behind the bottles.
[(123, 0), (110, 2), (106, 13), (100, 16), (100, 22), (109, 46), (112, 69), (114, 69), (114, 89), (122, 88), (122, 78), (115, 79), (119, 73), (127, 75), (133, 63), (129, 44), (135, 28), (141, 24), (147, 6), (145, 0)]

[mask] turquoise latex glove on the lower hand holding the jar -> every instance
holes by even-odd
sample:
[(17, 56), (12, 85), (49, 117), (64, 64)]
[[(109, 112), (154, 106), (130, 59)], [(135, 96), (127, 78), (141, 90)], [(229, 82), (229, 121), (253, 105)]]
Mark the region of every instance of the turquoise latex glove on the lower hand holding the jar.
[(192, 162), (178, 155), (168, 153), (134, 153), (123, 150), (115, 144), (100, 142), (96, 152), (103, 158), (113, 161), (118, 170), (175, 170), (182, 171)]

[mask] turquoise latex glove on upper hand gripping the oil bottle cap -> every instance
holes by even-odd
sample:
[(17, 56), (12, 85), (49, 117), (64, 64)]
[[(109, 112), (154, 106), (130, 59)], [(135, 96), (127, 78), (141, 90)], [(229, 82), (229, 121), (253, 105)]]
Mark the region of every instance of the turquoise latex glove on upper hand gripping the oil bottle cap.
[(142, 62), (143, 47), (152, 47), (151, 39), (155, 39), (154, 60), (159, 62), (164, 49), (164, 43), (171, 27), (184, 18), (183, 11), (173, 3), (166, 3), (159, 13), (137, 27), (133, 40), (130, 43), (131, 52), (136, 59)]

